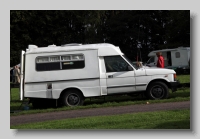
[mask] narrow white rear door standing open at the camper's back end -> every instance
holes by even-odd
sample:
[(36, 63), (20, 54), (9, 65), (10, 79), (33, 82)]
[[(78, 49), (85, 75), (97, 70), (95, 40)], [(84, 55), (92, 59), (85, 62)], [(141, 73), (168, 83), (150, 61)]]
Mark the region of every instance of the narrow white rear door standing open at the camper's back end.
[(25, 51), (21, 51), (21, 63), (20, 63), (20, 100), (24, 98), (24, 60)]

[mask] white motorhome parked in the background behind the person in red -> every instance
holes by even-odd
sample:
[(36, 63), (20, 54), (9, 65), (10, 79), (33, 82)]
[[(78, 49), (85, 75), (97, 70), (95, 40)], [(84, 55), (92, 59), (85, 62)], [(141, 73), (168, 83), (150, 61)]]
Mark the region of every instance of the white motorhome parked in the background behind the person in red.
[(148, 54), (149, 60), (146, 65), (155, 67), (157, 64), (156, 53), (161, 52), (164, 57), (165, 68), (181, 68), (185, 70), (190, 69), (190, 47), (178, 47), (175, 49), (163, 49), (152, 51)]

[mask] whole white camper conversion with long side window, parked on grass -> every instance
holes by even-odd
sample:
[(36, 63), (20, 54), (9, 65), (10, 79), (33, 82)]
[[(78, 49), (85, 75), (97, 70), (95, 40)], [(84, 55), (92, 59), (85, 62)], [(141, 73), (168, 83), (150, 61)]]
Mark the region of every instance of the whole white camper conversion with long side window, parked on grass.
[(174, 70), (136, 69), (112, 44), (29, 45), (21, 54), (20, 100), (33, 106), (44, 99), (76, 106), (87, 97), (138, 92), (165, 99), (177, 85)]

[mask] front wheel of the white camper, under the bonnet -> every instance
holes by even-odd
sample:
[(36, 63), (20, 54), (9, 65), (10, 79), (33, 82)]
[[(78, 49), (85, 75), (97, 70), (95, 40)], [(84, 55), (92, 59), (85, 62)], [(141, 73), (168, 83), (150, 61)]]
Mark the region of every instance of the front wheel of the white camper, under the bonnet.
[(169, 95), (169, 88), (163, 82), (153, 82), (147, 88), (147, 95), (150, 99), (166, 99)]

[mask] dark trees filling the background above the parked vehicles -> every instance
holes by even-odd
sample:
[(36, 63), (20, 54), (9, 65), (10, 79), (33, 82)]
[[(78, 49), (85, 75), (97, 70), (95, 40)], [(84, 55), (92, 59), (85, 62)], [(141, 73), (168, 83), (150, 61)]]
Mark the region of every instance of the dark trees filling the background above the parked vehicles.
[(10, 11), (10, 66), (29, 44), (67, 43), (111, 43), (145, 62), (152, 50), (190, 46), (190, 11)]

